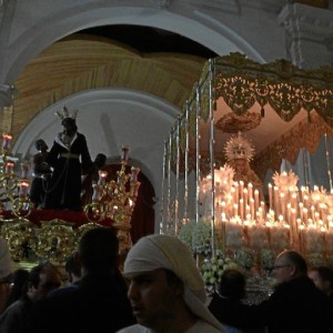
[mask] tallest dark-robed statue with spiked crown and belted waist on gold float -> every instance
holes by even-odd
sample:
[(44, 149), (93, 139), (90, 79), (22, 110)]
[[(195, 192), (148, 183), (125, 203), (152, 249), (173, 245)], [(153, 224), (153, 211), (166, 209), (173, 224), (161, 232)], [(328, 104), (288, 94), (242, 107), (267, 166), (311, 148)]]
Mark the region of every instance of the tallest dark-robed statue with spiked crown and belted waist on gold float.
[(85, 137), (78, 132), (75, 114), (69, 117), (63, 108), (63, 131), (59, 133), (48, 155), (53, 168), (52, 178), (46, 196), (46, 209), (81, 210), (81, 173), (89, 170), (92, 161)]

